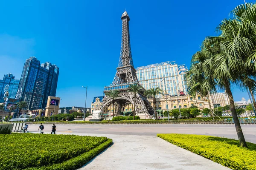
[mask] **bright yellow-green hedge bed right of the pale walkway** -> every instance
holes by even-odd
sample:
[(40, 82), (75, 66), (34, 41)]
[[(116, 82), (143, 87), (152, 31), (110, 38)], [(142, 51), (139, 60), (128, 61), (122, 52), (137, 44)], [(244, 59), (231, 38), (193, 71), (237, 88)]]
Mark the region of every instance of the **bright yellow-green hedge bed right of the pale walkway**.
[(238, 140), (215, 136), (185, 134), (157, 134), (157, 136), (233, 170), (256, 170), (256, 144), (247, 142), (248, 148), (244, 148), (239, 146)]

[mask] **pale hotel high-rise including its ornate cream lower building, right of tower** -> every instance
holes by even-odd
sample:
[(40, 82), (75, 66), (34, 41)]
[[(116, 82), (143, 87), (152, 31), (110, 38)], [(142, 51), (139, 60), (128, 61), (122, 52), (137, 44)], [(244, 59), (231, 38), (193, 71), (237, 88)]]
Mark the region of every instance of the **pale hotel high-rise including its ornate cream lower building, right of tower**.
[[(175, 108), (189, 108), (193, 105), (199, 109), (213, 108), (211, 96), (208, 99), (202, 96), (195, 96), (192, 98), (188, 95), (187, 84), (185, 81), (185, 74), (188, 71), (185, 65), (177, 65), (175, 62), (161, 62), (159, 64), (152, 64), (138, 67), (137, 77), (146, 90), (150, 88), (162, 89), (164, 95), (157, 96), (156, 107), (160, 110), (175, 109)], [(148, 99), (152, 105), (153, 99)]]

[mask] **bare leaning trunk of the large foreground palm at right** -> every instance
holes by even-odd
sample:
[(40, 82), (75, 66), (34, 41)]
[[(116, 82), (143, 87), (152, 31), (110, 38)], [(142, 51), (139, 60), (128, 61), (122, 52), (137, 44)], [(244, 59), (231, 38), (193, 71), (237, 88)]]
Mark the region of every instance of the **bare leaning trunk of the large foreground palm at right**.
[(246, 144), (245, 139), (244, 139), (244, 134), (243, 134), (239, 119), (237, 117), (236, 107), (235, 107), (235, 103), (234, 103), (234, 99), (233, 99), (233, 94), (230, 90), (229, 83), (225, 83), (224, 87), (226, 89), (227, 96), (230, 100), (230, 109), (231, 109), (232, 117), (233, 117), (233, 120), (234, 120), (234, 123), (235, 123), (236, 133), (237, 133), (237, 136), (238, 136), (238, 139), (239, 139), (239, 142), (240, 142), (240, 146), (241, 147), (247, 147), (247, 144)]

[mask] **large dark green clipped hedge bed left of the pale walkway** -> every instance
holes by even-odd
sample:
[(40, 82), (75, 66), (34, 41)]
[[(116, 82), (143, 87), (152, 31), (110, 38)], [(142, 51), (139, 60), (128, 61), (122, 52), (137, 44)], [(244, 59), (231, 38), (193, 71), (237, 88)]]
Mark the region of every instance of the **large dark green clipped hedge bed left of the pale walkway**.
[(112, 139), (95, 136), (0, 135), (0, 170), (73, 170), (111, 144)]

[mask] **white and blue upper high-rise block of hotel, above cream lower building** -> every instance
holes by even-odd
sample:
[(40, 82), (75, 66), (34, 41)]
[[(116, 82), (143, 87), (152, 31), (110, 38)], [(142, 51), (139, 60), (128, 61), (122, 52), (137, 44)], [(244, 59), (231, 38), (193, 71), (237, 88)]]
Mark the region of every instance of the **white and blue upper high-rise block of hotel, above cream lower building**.
[[(151, 64), (138, 67), (137, 77), (140, 85), (146, 90), (150, 88), (161, 88), (168, 95), (175, 96), (187, 94), (187, 85), (184, 75), (188, 69), (185, 65), (177, 65), (175, 62), (161, 62), (159, 64)], [(165, 77), (165, 82), (163, 81)], [(166, 87), (165, 87), (166, 85)]]

